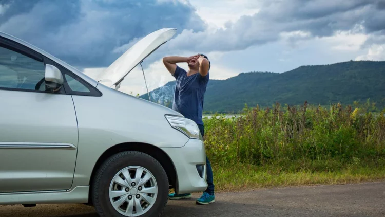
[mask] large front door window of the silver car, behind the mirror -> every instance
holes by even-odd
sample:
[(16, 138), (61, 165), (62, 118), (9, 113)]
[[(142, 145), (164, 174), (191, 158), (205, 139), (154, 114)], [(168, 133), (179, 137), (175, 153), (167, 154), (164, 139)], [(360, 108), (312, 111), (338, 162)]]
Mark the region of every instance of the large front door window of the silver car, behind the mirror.
[(0, 88), (25, 89), (45, 92), (43, 61), (0, 47)]

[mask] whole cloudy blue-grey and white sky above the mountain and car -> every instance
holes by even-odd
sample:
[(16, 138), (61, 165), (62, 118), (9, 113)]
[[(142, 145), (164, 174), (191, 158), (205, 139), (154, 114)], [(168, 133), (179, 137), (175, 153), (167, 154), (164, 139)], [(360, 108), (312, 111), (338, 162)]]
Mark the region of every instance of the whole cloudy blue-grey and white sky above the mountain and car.
[[(204, 52), (211, 79), (385, 60), (385, 0), (0, 0), (0, 31), (91, 77), (160, 28), (178, 33), (144, 61), (149, 89), (173, 79), (168, 55)], [(121, 91), (146, 92), (140, 67)]]

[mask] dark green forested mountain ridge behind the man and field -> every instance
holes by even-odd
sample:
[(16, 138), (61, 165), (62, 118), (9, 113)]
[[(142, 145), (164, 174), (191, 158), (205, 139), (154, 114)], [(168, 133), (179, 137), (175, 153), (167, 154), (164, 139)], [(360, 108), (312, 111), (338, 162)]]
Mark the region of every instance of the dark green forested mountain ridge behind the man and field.
[[(210, 71), (211, 74), (215, 71)], [(151, 101), (171, 107), (175, 81), (150, 92)], [(148, 99), (147, 94), (141, 98)], [(370, 99), (385, 106), (385, 61), (349, 61), (301, 66), (285, 73), (249, 72), (226, 80), (210, 80), (204, 111), (236, 113), (247, 104), (262, 107), (275, 102), (315, 105), (353, 104)]]

